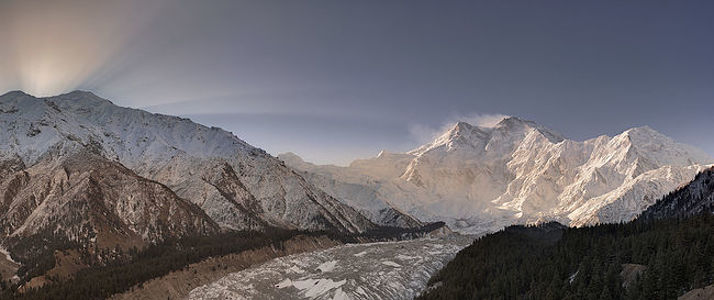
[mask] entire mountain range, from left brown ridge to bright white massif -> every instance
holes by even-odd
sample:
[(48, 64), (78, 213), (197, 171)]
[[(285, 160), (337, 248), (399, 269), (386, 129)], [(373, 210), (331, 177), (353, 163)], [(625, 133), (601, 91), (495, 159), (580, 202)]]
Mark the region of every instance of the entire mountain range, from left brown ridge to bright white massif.
[[(451, 232), (424, 226), (436, 221), (481, 235), (513, 224), (684, 217), (712, 211), (714, 194), (714, 159), (649, 127), (575, 141), (517, 117), (488, 127), (457, 122), (412, 151), (339, 167), (274, 157), (220, 128), (83, 91), (4, 94), (0, 126), (0, 275), (20, 293), (152, 257), (140, 249), (198, 253), (171, 241)], [(404, 274), (399, 280), (409, 280)]]

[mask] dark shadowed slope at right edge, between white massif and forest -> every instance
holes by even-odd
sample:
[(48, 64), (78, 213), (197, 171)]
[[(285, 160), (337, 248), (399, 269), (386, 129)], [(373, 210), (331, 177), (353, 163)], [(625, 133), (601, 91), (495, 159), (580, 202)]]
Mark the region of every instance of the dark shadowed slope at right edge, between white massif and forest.
[(714, 213), (714, 168), (699, 174), (688, 185), (664, 196), (642, 213), (642, 219), (688, 217)]

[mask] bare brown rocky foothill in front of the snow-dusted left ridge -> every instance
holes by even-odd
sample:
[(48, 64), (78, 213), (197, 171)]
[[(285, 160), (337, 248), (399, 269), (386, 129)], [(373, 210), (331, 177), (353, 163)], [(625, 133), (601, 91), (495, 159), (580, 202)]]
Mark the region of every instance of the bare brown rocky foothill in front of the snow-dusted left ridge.
[(113, 248), (219, 230), (166, 186), (87, 151), (50, 154), (5, 177), (0, 230), (11, 240), (45, 235)]

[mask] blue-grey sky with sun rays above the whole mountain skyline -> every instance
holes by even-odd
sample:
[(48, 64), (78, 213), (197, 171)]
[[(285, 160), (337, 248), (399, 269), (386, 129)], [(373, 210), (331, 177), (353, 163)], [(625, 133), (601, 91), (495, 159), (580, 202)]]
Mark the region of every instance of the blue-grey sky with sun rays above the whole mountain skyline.
[(346, 165), (502, 115), (714, 155), (714, 1), (0, 0), (0, 94), (93, 91)]

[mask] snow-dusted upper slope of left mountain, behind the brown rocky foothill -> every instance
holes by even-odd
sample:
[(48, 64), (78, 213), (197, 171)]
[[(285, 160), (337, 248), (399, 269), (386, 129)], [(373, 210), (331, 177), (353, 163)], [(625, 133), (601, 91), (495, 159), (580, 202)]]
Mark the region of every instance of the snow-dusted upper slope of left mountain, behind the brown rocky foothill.
[(0, 126), (0, 161), (31, 168), (48, 153), (90, 151), (169, 187), (224, 228), (360, 232), (374, 226), (230, 132), (118, 107), (88, 92), (7, 93), (0, 96)]

